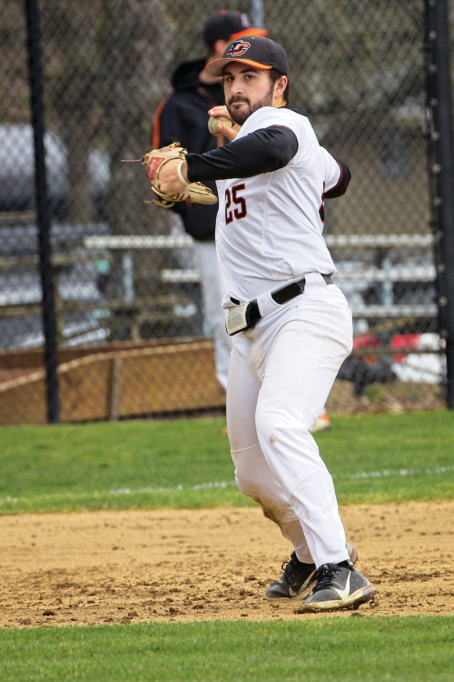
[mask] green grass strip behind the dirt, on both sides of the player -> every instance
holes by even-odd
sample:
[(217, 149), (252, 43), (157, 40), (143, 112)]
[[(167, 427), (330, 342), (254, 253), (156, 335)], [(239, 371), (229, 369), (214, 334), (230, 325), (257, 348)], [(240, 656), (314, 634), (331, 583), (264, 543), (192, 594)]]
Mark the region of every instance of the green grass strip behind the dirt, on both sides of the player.
[[(334, 417), (317, 435), (341, 504), (454, 495), (454, 414)], [(0, 513), (252, 504), (222, 418), (0, 428)]]

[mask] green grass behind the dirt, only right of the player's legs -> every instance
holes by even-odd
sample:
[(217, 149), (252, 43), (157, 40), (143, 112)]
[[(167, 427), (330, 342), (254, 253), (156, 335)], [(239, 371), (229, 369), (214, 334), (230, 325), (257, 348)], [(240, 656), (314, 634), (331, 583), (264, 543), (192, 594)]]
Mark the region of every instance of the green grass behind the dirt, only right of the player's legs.
[(454, 496), (454, 412), (334, 420), (317, 438), (340, 502)]

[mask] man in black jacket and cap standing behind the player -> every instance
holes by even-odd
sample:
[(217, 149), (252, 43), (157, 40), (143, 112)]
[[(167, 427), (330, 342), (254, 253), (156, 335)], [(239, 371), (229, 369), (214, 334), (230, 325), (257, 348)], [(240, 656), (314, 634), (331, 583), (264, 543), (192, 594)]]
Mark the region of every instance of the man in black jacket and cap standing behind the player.
[[(175, 69), (173, 93), (163, 98), (153, 117), (152, 149), (179, 142), (188, 152), (203, 154), (224, 144), (224, 138), (214, 137), (207, 127), (208, 109), (224, 104), (222, 78), (209, 75), (205, 67), (222, 57), (226, 46), (243, 35), (268, 35), (268, 31), (253, 28), (247, 15), (240, 12), (222, 10), (208, 19), (202, 32), (206, 56), (185, 61)], [(214, 182), (206, 184), (216, 193)], [(182, 217), (186, 233), (192, 236), (201, 275), (205, 326), (214, 340), (216, 376), (226, 389), (232, 340), (225, 331), (223, 290), (214, 243), (218, 205), (176, 204), (174, 210)]]

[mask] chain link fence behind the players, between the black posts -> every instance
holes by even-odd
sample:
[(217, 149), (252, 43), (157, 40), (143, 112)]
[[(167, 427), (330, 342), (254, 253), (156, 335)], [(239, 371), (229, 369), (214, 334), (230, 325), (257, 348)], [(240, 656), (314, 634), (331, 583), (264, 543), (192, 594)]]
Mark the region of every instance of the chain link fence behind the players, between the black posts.
[[(445, 405), (429, 215), (420, 0), (264, 0), (291, 104), (352, 181), (325, 236), (355, 344), (331, 413)], [(41, 0), (44, 146), (62, 420), (223, 409), (191, 237), (147, 206), (153, 113), (223, 2)], [(0, 420), (46, 420), (24, 3), (2, 0)], [(252, 17), (253, 18), (253, 17)], [(191, 150), (190, 150), (191, 151)]]

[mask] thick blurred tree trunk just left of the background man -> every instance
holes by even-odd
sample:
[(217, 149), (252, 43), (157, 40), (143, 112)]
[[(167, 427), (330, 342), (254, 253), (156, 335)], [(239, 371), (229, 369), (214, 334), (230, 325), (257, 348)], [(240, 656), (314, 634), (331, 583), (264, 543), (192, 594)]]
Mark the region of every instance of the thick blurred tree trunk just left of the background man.
[(122, 165), (121, 159), (148, 151), (153, 111), (167, 85), (173, 28), (156, 0), (102, 0), (102, 7), (97, 100), (103, 107), (100, 131), (111, 156), (107, 216), (112, 232), (137, 234), (149, 231), (153, 211), (140, 207), (151, 198), (150, 190), (143, 167)]

